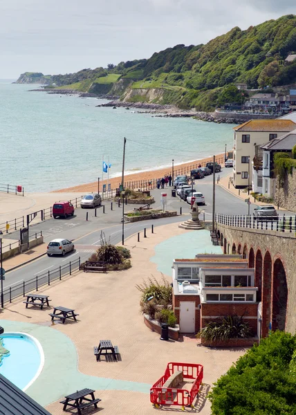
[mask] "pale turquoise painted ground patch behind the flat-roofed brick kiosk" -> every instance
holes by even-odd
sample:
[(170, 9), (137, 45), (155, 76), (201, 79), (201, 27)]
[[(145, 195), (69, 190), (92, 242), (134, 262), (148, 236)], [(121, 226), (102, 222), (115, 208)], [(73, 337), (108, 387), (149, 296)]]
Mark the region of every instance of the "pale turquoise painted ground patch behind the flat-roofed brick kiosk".
[(190, 259), (196, 254), (222, 254), (221, 246), (213, 246), (209, 230), (192, 230), (158, 243), (155, 255), (150, 258), (157, 270), (172, 275), (174, 259)]

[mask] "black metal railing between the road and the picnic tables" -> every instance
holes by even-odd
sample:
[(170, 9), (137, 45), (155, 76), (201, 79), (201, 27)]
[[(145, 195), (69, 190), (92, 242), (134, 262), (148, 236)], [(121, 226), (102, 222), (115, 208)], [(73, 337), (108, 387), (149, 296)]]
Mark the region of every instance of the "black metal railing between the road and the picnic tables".
[(3, 289), (4, 304), (12, 302), (12, 299), (17, 297), (26, 297), (30, 291), (38, 291), (39, 288), (45, 285), (50, 285), (51, 282), (66, 275), (72, 275), (75, 271), (80, 269), (80, 257), (74, 261), (70, 261), (68, 264), (61, 265), (54, 270), (48, 270), (46, 273), (40, 273), (27, 281), (19, 282), (18, 284), (12, 284), (11, 286)]

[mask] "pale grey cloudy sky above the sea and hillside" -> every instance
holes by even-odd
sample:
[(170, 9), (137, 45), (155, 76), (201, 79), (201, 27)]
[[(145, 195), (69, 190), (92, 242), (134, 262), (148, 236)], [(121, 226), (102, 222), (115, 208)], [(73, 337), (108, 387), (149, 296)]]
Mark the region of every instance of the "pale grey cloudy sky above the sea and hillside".
[(0, 0), (0, 79), (106, 67), (295, 13), (295, 0)]

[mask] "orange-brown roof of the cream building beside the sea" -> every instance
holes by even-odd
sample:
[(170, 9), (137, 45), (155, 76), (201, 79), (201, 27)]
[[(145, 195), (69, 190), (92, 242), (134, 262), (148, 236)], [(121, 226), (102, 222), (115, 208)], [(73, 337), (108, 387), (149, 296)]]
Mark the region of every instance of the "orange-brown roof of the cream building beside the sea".
[(270, 132), (290, 132), (296, 128), (296, 123), (292, 120), (249, 120), (234, 127), (234, 131), (270, 131)]

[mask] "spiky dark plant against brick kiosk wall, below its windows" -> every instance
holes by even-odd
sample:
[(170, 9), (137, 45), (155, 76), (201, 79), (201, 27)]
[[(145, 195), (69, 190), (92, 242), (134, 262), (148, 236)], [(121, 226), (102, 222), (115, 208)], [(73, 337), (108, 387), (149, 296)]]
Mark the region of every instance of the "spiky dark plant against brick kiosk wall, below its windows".
[(203, 338), (206, 342), (216, 343), (225, 340), (252, 337), (252, 329), (243, 321), (243, 315), (226, 315), (219, 320), (209, 322), (198, 331), (196, 338)]

